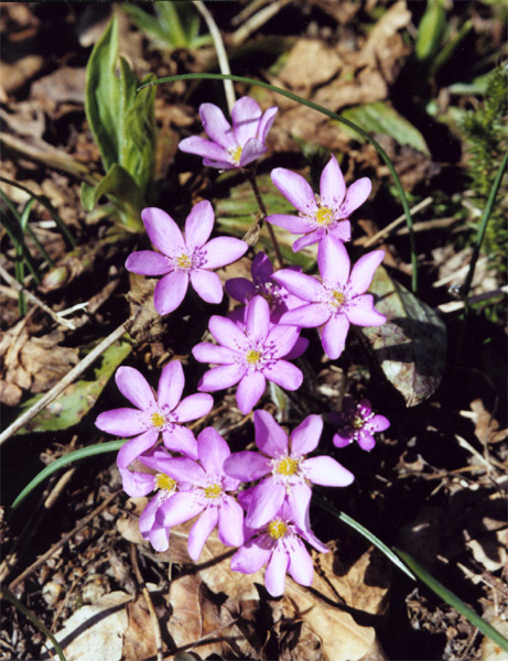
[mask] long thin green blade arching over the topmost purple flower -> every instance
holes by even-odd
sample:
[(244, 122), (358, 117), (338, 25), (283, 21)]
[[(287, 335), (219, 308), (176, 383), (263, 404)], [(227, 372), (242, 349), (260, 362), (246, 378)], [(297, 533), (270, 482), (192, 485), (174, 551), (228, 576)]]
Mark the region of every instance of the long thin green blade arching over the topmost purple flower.
[(342, 117), (341, 115), (337, 115), (336, 112), (333, 112), (332, 110), (328, 110), (327, 108), (324, 108), (323, 106), (314, 104), (313, 101), (309, 101), (307, 99), (304, 99), (304, 98), (293, 94), (292, 91), (288, 91), (287, 89), (282, 89), (280, 87), (274, 87), (273, 85), (270, 85), (269, 83), (262, 83), (261, 80), (255, 80), (252, 78), (246, 78), (244, 76), (234, 76), (234, 75), (224, 75), (224, 74), (182, 74), (180, 76), (167, 76), (165, 78), (159, 78), (158, 80), (153, 80), (152, 83), (142, 85), (141, 87), (138, 88), (138, 91), (140, 89), (143, 89), (144, 87), (149, 87), (152, 85), (160, 85), (161, 83), (175, 83), (176, 80), (192, 80), (192, 79), (236, 80), (237, 83), (245, 83), (247, 85), (256, 85), (258, 87), (263, 87), (264, 89), (270, 89), (271, 91), (274, 91), (275, 94), (285, 96), (287, 98), (292, 99), (293, 101), (302, 104), (303, 106), (307, 106), (307, 108), (312, 108), (313, 110), (316, 110), (317, 112), (321, 112), (322, 115), (326, 115), (326, 117), (329, 117), (331, 119), (334, 119), (335, 121), (346, 124), (347, 127), (353, 129), (355, 132), (363, 136), (368, 142), (370, 142), (370, 144), (378, 151), (379, 155), (387, 164), (387, 167), (390, 171), (391, 176), (393, 177), (393, 182), (396, 184), (397, 191), (399, 193), (400, 202), (401, 202), (402, 208), (404, 210), (406, 224), (408, 226), (408, 232), (409, 232), (409, 243), (410, 243), (410, 248), (411, 248), (412, 290), (413, 290), (413, 293), (417, 293), (417, 290), (418, 290), (417, 242), (415, 242), (415, 238), (414, 238), (413, 220), (411, 217), (409, 203), (408, 203), (408, 199), (406, 198), (404, 189), (400, 182), (399, 175), (396, 172), (393, 163), (391, 162), (390, 158), (388, 156), (386, 151), (382, 149), (382, 147), (377, 142), (377, 140), (375, 140), (367, 131), (365, 131), (364, 129), (358, 127), (353, 121), (346, 119), (345, 117)]

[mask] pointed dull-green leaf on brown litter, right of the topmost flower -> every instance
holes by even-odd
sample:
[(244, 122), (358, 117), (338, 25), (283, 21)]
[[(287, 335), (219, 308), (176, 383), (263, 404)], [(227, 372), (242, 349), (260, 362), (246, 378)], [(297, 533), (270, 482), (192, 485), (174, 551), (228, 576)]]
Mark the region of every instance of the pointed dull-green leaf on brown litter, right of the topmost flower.
[[(341, 113), (349, 121), (360, 124), (366, 131), (383, 133), (394, 138), (399, 144), (409, 144), (425, 155), (430, 155), (425, 139), (420, 131), (413, 127), (402, 115), (391, 106), (389, 101), (376, 101), (365, 106), (355, 106), (343, 110)], [(341, 127), (347, 133), (357, 134), (347, 127)]]

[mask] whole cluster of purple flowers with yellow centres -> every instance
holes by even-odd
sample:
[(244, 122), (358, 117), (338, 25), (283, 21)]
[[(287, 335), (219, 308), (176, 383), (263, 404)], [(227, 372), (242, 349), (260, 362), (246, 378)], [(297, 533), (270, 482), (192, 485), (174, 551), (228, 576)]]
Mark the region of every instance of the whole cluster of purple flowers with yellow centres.
[[(267, 151), (277, 108), (262, 112), (257, 101), (242, 97), (233, 107), (233, 127), (213, 104), (203, 104), (199, 115), (209, 140), (186, 138), (180, 148), (202, 156), (205, 165), (244, 171)], [(318, 275), (294, 267), (274, 271), (269, 258), (258, 252), (251, 280), (231, 278), (225, 283), (240, 305), (228, 316), (210, 317), (208, 329), (215, 343), (202, 342), (192, 349), (197, 361), (212, 366), (198, 383), (199, 392), (181, 399), (185, 377), (177, 360), (162, 370), (156, 395), (138, 370), (120, 367), (117, 386), (136, 408), (100, 413), (96, 425), (129, 438), (117, 458), (127, 494), (155, 492), (140, 518), (142, 535), (155, 550), (169, 548), (171, 528), (198, 517), (188, 535), (194, 561), (218, 525), (219, 540), (238, 546), (231, 568), (251, 574), (267, 565), (267, 589), (279, 596), (287, 573), (302, 585), (312, 584), (313, 563), (305, 543), (327, 552), (311, 528), (312, 485), (346, 487), (354, 480), (353, 473), (333, 457), (307, 456), (320, 443), (323, 418), (307, 415), (288, 437), (269, 412), (255, 410), (258, 452), (233, 454), (214, 427), (206, 427), (196, 440), (185, 423), (209, 413), (214, 402), (208, 393), (235, 384), (244, 414), (258, 404), (267, 381), (298, 390), (303, 373), (292, 360), (309, 346), (302, 328), (317, 328), (323, 350), (336, 359), (350, 324), (383, 324), (386, 317), (366, 292), (385, 253), (368, 252), (352, 268), (345, 248), (350, 239), (349, 216), (367, 199), (371, 185), (361, 178), (346, 188), (334, 155), (322, 172), (318, 196), (289, 170), (277, 167), (271, 180), (298, 215), (268, 215), (266, 221), (303, 235), (294, 241), (294, 252), (318, 243)], [(231, 237), (209, 240), (215, 218), (208, 201), (193, 207), (183, 232), (162, 209), (145, 208), (141, 217), (156, 251), (133, 252), (126, 267), (162, 277), (154, 291), (156, 311), (175, 312), (190, 284), (207, 303), (219, 303), (223, 285), (214, 270), (238, 260), (247, 252), (247, 242)], [(385, 416), (371, 411), (368, 400), (357, 404), (352, 398), (346, 399), (343, 413), (332, 414), (329, 421), (336, 425), (336, 447), (356, 441), (366, 451), (375, 445), (372, 434), (389, 426)]]

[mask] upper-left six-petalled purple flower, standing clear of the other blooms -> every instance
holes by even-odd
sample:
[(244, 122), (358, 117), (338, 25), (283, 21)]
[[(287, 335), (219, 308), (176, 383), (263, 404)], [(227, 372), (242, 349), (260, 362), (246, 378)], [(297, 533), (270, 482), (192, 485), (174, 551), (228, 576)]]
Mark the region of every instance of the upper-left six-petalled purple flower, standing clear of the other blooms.
[(185, 237), (162, 209), (149, 207), (143, 209), (141, 217), (150, 240), (160, 252), (133, 252), (127, 258), (126, 269), (142, 275), (164, 275), (153, 295), (159, 314), (169, 314), (179, 307), (190, 280), (204, 301), (220, 303), (223, 285), (219, 277), (209, 269), (236, 261), (247, 251), (248, 245), (231, 237), (208, 241), (215, 220), (210, 203), (204, 199), (193, 207), (185, 220)]

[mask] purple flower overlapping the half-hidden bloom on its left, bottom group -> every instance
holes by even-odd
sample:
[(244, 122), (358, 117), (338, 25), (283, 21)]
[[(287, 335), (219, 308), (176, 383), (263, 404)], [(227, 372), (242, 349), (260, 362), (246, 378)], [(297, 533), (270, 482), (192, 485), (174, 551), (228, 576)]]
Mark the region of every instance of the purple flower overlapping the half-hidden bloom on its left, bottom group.
[(224, 462), (230, 455), (228, 444), (214, 427), (206, 427), (197, 437), (197, 454), (199, 463), (186, 457), (164, 463), (164, 472), (186, 487), (165, 500), (155, 514), (156, 523), (169, 529), (201, 513), (188, 533), (188, 555), (194, 561), (217, 523), (223, 544), (244, 543), (244, 510), (226, 492), (236, 491), (239, 485), (224, 473)]

